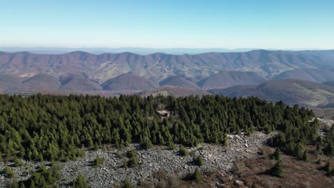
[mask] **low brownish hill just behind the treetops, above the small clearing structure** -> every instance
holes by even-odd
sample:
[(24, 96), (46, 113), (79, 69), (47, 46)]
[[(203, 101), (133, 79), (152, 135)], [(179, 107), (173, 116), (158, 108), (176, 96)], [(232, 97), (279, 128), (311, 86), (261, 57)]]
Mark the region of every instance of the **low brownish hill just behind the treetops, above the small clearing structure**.
[(154, 88), (152, 90), (144, 90), (141, 93), (138, 93), (143, 97), (147, 97), (149, 95), (172, 95), (175, 97), (187, 96), (187, 95), (210, 95), (210, 93), (205, 90), (193, 89), (193, 88), (182, 88), (178, 86), (171, 85), (163, 85), (159, 88)]

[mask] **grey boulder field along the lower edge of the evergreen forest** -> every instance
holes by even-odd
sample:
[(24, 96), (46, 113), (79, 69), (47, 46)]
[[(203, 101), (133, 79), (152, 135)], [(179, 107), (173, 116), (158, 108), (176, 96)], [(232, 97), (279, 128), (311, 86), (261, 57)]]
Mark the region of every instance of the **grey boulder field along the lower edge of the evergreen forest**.
[[(141, 150), (138, 144), (133, 144), (123, 150), (88, 150), (79, 160), (61, 163), (61, 179), (59, 187), (69, 187), (79, 174), (86, 177), (91, 187), (111, 187), (124, 181), (137, 184), (138, 182), (157, 182), (156, 172), (163, 171), (167, 174), (193, 172), (196, 166), (193, 157), (201, 155), (204, 160), (200, 167), (202, 172), (213, 170), (227, 171), (231, 169), (233, 161), (256, 157), (258, 148), (265, 144), (272, 135), (255, 132), (251, 137), (243, 135), (229, 135), (228, 147), (221, 145), (202, 144), (198, 147), (187, 148), (190, 156), (183, 157), (176, 150), (168, 150), (167, 147), (153, 147), (150, 150)], [(177, 146), (178, 147), (178, 146)], [(123, 167), (126, 152), (135, 149), (138, 157), (138, 167)], [(96, 156), (103, 157), (104, 162), (100, 167), (93, 167), (92, 162)], [(29, 177), (29, 170), (36, 169), (48, 162), (34, 163), (24, 162), (23, 167), (11, 167), (17, 180)], [(11, 165), (11, 164), (9, 164)], [(4, 164), (0, 164), (3, 171)], [(6, 185), (10, 179), (0, 174), (0, 184)], [(1, 187), (1, 186), (0, 186)]]

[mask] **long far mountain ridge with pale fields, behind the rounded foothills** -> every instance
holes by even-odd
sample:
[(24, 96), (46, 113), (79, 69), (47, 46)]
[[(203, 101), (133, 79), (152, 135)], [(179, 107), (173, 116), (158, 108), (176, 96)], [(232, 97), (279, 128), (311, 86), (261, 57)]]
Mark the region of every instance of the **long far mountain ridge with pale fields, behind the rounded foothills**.
[(66, 73), (86, 73), (88, 78), (103, 83), (123, 73), (132, 72), (157, 82), (177, 75), (201, 80), (220, 71), (253, 71), (273, 78), (295, 68), (334, 70), (334, 51), (248, 51), (241, 53), (202, 53), (170, 55), (153, 53), (103, 53), (82, 51), (65, 54), (35, 54), (28, 52), (0, 53), (0, 73), (55, 76)]

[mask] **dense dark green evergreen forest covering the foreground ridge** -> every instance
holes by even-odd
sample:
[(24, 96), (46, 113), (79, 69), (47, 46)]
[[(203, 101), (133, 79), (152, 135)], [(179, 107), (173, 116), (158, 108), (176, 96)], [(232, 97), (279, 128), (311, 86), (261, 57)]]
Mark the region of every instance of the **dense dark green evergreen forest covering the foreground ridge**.
[[(161, 120), (156, 110), (170, 110)], [(312, 142), (333, 155), (333, 135), (318, 137), (313, 112), (258, 98), (0, 95), (0, 150), (4, 160), (75, 160), (81, 148), (105, 144), (126, 147), (131, 142), (151, 145), (196, 146), (201, 142), (224, 144), (227, 134), (259, 130), (280, 134), (270, 144), (302, 157)], [(300, 155), (301, 152), (301, 155)]]

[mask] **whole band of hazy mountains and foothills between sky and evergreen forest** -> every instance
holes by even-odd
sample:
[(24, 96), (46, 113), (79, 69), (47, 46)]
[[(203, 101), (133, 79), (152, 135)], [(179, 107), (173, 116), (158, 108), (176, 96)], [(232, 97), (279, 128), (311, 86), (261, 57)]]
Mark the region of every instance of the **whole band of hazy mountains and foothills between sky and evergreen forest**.
[[(257, 96), (305, 106), (334, 103), (334, 51), (171, 55), (0, 52), (2, 93)], [(323, 84), (322, 84), (323, 83)], [(159, 87), (160, 86), (160, 87)]]

